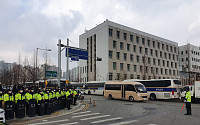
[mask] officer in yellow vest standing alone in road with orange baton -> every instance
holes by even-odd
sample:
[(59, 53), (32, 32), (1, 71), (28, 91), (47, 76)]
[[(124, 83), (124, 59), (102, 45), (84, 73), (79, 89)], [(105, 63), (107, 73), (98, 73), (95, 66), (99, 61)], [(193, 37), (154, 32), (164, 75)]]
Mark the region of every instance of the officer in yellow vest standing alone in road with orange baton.
[(192, 113), (191, 113), (191, 94), (189, 91), (189, 87), (186, 88), (185, 103), (186, 103), (186, 111), (187, 111), (187, 113), (185, 115), (192, 115)]

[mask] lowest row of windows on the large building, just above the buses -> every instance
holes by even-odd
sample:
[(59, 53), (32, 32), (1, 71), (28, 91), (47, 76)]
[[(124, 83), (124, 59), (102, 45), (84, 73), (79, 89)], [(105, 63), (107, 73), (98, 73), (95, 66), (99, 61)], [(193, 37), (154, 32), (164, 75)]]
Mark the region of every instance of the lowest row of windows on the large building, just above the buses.
[[(120, 79), (143, 79), (144, 75), (136, 75), (134, 76), (134, 74), (121, 74), (121, 73), (116, 73), (116, 77), (113, 78), (113, 73), (109, 73), (109, 80), (120, 80)], [(178, 75), (178, 72), (177, 72)], [(173, 75), (175, 78), (175, 75)], [(145, 76), (145, 79), (171, 79), (172, 77), (161, 77), (158, 75), (147, 75)]]

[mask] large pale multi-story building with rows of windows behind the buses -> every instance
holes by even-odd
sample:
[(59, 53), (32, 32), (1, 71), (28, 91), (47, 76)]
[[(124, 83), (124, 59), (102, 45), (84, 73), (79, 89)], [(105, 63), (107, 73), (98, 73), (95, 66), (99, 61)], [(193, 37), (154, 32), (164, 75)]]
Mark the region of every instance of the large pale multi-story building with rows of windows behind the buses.
[[(82, 82), (178, 78), (178, 43), (111, 21), (79, 36)], [(102, 61), (97, 61), (97, 57)]]

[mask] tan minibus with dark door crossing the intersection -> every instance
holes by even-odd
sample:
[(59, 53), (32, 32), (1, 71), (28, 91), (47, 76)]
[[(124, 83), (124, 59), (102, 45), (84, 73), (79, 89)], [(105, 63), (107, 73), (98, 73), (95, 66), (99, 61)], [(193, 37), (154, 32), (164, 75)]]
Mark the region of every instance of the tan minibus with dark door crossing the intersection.
[(105, 83), (104, 97), (129, 101), (147, 100), (145, 86), (139, 82), (109, 81)]

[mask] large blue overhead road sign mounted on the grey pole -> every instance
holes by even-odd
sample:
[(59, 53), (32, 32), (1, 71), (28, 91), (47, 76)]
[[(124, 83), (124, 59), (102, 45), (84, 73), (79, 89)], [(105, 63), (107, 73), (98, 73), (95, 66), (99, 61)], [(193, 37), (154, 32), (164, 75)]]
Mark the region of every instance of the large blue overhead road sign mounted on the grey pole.
[[(69, 57), (77, 56), (79, 59), (88, 60), (88, 51), (87, 50), (70, 47), (70, 48), (68, 48), (68, 54), (69, 54)], [(67, 56), (67, 48), (66, 48), (66, 56)]]

